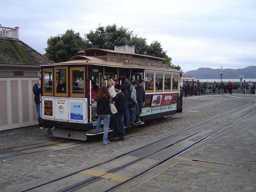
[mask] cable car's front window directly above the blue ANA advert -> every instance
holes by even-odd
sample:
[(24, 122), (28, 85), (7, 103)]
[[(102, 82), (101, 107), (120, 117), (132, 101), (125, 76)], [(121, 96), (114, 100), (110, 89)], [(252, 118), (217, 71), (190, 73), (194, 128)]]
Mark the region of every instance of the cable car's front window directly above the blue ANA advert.
[(84, 93), (84, 70), (72, 70), (72, 93)]

